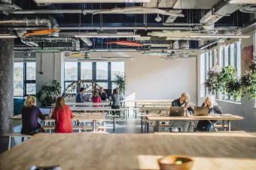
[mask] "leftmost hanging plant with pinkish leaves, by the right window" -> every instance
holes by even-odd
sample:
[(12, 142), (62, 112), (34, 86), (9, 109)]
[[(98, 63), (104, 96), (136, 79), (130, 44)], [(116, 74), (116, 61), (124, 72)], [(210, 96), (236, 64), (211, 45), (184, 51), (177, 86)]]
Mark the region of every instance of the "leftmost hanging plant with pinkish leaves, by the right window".
[(210, 68), (207, 72), (207, 79), (204, 83), (205, 87), (209, 89), (211, 93), (215, 93), (221, 88), (221, 84), (218, 82), (218, 77), (220, 76), (221, 68), (218, 65)]

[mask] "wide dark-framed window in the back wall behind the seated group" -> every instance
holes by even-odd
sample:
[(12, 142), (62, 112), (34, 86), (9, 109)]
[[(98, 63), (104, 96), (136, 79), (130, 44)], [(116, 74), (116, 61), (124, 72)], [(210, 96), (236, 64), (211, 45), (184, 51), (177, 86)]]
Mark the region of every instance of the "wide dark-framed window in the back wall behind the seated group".
[(65, 88), (78, 80), (92, 80), (114, 89), (115, 74), (124, 76), (124, 62), (65, 62)]

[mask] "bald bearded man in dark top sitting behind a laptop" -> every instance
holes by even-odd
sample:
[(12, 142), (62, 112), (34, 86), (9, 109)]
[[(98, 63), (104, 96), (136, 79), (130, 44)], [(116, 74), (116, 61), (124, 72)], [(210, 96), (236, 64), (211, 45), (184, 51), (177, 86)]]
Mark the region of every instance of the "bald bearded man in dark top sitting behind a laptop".
[[(188, 103), (189, 95), (187, 93), (181, 94), (181, 97), (172, 101), (172, 107), (184, 107), (184, 111), (188, 115), (194, 114), (194, 109)], [(189, 121), (174, 121), (172, 127), (182, 127), (182, 132), (193, 132), (194, 127)]]

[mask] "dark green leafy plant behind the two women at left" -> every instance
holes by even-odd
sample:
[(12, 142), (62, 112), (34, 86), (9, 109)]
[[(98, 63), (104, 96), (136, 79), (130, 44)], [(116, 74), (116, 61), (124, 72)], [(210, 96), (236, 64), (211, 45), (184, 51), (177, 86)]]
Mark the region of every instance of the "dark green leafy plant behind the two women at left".
[(51, 85), (47, 85), (46, 82), (35, 94), (35, 97), (39, 101), (41, 107), (51, 106), (52, 103), (56, 102), (56, 97), (59, 96), (60, 91), (60, 84), (54, 79)]

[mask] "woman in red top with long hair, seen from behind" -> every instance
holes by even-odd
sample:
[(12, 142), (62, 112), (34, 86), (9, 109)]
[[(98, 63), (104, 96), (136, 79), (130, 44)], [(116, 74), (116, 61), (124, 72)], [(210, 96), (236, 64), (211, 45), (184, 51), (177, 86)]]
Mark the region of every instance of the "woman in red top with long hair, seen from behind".
[(64, 97), (57, 98), (51, 118), (55, 119), (56, 133), (73, 133), (73, 114), (69, 106), (66, 106)]

